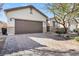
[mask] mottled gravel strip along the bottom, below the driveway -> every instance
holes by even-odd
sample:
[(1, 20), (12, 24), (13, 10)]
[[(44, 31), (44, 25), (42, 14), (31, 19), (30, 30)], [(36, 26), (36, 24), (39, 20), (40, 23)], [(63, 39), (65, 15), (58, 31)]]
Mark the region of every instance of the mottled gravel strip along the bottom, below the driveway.
[(59, 51), (59, 50), (40, 50), (40, 49), (30, 49), (19, 51), (12, 54), (6, 54), (5, 56), (79, 56), (79, 51), (68, 50), (68, 51)]

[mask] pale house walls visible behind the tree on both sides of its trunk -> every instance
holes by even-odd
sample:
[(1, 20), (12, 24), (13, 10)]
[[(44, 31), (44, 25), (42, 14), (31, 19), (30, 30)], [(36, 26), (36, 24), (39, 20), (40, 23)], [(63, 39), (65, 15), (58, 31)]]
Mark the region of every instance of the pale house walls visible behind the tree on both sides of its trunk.
[[(50, 31), (54, 31), (56, 30), (56, 28), (63, 28), (63, 26), (57, 23), (54, 18), (50, 18), (48, 20), (48, 24), (50, 27)], [(66, 25), (67, 25), (66, 27), (68, 27), (68, 24)], [(79, 24), (72, 19), (72, 21), (70, 22), (70, 26), (68, 28), (69, 28), (69, 31), (73, 31), (74, 29), (79, 28)]]

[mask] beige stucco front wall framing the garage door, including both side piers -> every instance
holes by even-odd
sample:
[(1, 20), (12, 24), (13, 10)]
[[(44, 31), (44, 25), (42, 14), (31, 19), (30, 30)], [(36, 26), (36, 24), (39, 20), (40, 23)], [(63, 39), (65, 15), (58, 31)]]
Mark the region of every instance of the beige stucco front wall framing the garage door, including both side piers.
[[(23, 8), (6, 12), (8, 24), (12, 26), (8, 27), (8, 34), (13, 35), (15, 33), (15, 19), (42, 21), (43, 32), (47, 32), (46, 17), (41, 15), (35, 9), (32, 9), (32, 13), (33, 14), (30, 14), (30, 8)], [(10, 18), (13, 19), (10, 20)]]

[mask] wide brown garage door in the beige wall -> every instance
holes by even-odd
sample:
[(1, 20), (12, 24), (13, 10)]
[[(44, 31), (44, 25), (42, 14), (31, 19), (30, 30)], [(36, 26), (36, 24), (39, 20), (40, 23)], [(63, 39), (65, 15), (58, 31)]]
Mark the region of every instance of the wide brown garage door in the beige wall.
[(42, 31), (42, 22), (15, 20), (15, 34), (41, 33)]

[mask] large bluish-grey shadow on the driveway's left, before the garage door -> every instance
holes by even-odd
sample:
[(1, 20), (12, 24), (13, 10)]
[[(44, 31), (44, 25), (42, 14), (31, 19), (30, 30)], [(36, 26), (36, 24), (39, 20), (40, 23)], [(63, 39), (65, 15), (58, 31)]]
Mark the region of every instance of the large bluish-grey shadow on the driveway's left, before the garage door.
[(10, 36), (6, 38), (1, 55), (11, 54), (13, 52), (34, 49), (38, 47), (46, 47), (27, 36)]

